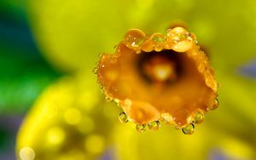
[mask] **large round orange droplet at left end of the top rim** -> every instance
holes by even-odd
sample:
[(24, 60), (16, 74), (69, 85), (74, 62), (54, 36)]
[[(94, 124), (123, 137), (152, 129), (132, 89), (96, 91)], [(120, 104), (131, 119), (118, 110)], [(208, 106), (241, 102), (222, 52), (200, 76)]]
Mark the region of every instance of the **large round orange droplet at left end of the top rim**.
[(146, 35), (143, 31), (134, 29), (126, 32), (124, 43), (128, 48), (137, 50), (143, 44), (145, 37)]

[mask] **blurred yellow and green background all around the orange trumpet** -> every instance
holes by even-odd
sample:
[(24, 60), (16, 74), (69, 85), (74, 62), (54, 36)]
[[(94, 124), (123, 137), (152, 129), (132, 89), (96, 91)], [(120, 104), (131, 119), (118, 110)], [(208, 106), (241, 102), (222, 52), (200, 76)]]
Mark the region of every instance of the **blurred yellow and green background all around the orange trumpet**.
[[(139, 134), (91, 69), (125, 31), (177, 22), (210, 57), (219, 108), (189, 136)], [(256, 159), (255, 37), (253, 0), (0, 0), (0, 159)]]

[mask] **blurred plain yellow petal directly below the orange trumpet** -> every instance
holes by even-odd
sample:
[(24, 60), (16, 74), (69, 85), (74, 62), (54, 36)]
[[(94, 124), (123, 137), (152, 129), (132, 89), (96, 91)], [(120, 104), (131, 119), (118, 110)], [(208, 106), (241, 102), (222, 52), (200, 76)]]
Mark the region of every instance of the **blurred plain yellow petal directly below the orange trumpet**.
[[(115, 129), (119, 159), (210, 159), (212, 152), (221, 151), (224, 157), (255, 159), (254, 146), (247, 140), (224, 133), (210, 125), (201, 125), (195, 134), (180, 134), (178, 130), (163, 125), (158, 131), (137, 134), (134, 125)], [(216, 155), (218, 156), (218, 155)]]

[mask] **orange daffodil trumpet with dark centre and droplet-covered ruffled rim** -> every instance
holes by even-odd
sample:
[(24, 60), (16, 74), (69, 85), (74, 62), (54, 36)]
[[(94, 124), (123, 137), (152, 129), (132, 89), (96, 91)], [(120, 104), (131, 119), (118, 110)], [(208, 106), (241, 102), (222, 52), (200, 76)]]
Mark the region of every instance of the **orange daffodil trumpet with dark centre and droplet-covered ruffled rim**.
[(115, 54), (102, 54), (97, 78), (108, 99), (139, 125), (165, 121), (185, 129), (218, 106), (207, 55), (182, 27), (150, 37), (128, 31)]

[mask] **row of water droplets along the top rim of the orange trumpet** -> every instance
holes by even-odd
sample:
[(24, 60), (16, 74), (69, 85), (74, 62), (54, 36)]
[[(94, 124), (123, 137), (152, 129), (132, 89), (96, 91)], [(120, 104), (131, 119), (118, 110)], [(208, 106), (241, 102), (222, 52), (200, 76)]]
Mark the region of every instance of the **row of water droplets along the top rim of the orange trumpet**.
[(124, 37), (124, 43), (127, 48), (135, 50), (137, 54), (156, 51), (162, 49), (173, 49), (177, 52), (183, 52), (191, 48), (192, 43), (197, 43), (195, 34), (189, 33), (183, 27), (175, 27), (167, 30), (167, 34), (154, 33), (146, 37), (143, 31), (134, 29), (127, 31)]

